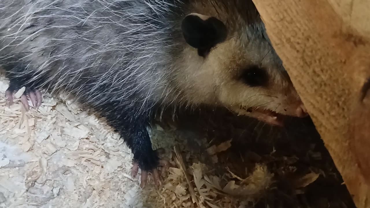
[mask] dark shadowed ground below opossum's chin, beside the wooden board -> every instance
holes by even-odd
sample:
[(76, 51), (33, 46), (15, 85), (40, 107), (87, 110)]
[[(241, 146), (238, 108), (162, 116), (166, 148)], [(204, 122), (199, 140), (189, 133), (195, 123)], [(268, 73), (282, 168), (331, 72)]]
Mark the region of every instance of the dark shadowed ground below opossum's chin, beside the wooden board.
[[(164, 113), (162, 121), (173, 123), (171, 115)], [(190, 140), (188, 144), (207, 139), (206, 147), (188, 148), (201, 162), (214, 167), (220, 177), (227, 172), (226, 167), (246, 178), (256, 163), (267, 165), (274, 182), (255, 204), (257, 208), (355, 208), (309, 117), (289, 117), (285, 127), (271, 127), (223, 109), (202, 108), (182, 110), (174, 121), (181, 137)], [(231, 147), (218, 153), (218, 162), (212, 164), (205, 149), (231, 139)]]

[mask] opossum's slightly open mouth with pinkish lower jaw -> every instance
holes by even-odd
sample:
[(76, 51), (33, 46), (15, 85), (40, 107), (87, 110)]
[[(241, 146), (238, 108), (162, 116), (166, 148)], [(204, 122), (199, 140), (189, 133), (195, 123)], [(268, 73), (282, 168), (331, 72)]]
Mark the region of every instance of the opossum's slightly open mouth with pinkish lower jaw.
[(252, 117), (257, 118), (260, 121), (264, 121), (271, 125), (283, 126), (283, 115), (276, 113), (272, 110), (261, 109), (261, 108), (248, 108), (247, 111), (251, 113)]

